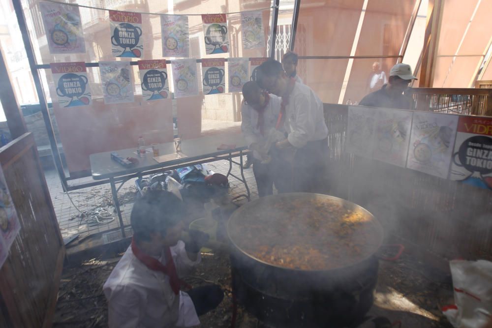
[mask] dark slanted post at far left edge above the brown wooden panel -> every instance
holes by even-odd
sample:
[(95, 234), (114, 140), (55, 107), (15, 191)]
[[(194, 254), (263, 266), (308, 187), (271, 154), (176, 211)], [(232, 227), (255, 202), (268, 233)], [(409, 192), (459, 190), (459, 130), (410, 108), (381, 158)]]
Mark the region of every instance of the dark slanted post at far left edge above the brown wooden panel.
[(21, 108), (15, 98), (14, 89), (12, 88), (10, 74), (3, 59), (3, 51), (0, 49), (0, 101), (7, 119), (8, 129), (12, 140), (28, 132)]

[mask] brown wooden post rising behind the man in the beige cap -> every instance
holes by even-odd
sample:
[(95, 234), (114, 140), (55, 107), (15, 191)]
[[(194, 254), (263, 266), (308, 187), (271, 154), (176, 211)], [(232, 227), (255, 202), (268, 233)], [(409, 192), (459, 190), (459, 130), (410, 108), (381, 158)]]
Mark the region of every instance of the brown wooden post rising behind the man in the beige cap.
[(424, 51), (419, 76), (420, 88), (432, 88), (434, 82), (434, 66), (439, 46), (443, 0), (430, 0), (427, 11), (427, 26), (424, 37)]

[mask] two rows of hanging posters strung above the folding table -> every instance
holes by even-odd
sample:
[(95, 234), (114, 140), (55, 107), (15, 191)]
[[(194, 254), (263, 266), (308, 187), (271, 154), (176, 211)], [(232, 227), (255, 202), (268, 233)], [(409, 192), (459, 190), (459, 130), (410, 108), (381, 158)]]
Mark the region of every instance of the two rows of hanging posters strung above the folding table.
[[(41, 1), (39, 3), (48, 46), (51, 54), (85, 53), (85, 41), (79, 7)], [(226, 14), (202, 16), (206, 53), (228, 53), (229, 34)], [(162, 56), (183, 58), (172, 60), (175, 97), (198, 95), (196, 60), (189, 57), (188, 17), (160, 15)], [(141, 58), (145, 54), (142, 14), (109, 10), (111, 33), (108, 41), (114, 57)], [(261, 10), (241, 13), (243, 48), (265, 47)], [(265, 61), (251, 59), (251, 71)], [(239, 92), (249, 81), (249, 58), (229, 58), (228, 92)], [(51, 63), (56, 93), (61, 107), (91, 105), (91, 88), (84, 62)], [(169, 81), (166, 60), (139, 60), (144, 100), (168, 98)], [(106, 104), (133, 102), (133, 81), (130, 61), (100, 61), (99, 70)], [(225, 60), (202, 59), (202, 87), (204, 94), (225, 92)]]

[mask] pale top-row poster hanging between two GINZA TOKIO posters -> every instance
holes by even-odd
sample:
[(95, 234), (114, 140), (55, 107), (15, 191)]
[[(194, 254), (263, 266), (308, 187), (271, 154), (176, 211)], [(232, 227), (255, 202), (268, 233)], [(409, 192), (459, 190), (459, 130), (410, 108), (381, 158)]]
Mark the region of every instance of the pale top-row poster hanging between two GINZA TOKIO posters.
[(162, 57), (189, 57), (187, 16), (160, 16)]

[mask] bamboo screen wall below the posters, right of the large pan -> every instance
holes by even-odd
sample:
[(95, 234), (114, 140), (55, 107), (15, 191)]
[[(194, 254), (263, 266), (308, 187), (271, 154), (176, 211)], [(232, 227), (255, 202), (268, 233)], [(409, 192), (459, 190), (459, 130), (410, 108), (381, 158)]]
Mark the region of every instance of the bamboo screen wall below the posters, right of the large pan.
[(365, 207), (386, 235), (423, 253), (491, 259), (492, 191), (345, 152), (347, 113), (346, 105), (325, 104), (330, 194)]

